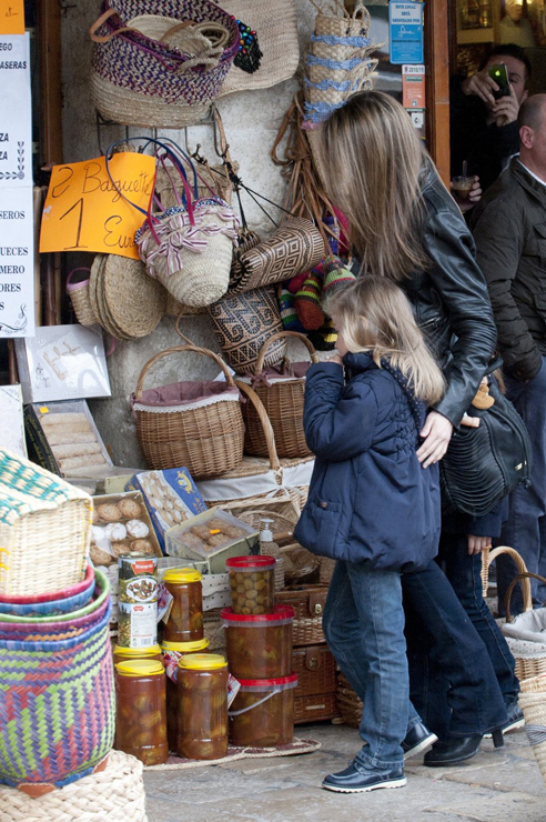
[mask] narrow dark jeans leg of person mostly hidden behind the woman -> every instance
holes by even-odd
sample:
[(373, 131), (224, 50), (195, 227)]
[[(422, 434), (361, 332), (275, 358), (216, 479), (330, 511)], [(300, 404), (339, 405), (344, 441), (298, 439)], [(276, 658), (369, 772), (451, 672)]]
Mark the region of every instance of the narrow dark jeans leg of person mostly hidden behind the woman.
[(509, 705), (519, 693), (516, 663), (484, 600), (482, 554), (468, 554), (466, 534), (443, 533), (439, 544), (442, 567), (487, 649), (504, 702)]

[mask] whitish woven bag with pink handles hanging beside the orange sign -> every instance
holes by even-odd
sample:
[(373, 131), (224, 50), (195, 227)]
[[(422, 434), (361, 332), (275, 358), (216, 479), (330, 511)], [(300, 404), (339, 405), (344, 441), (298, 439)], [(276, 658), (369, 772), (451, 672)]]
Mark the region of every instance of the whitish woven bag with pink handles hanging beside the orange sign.
[(239, 220), (231, 206), (213, 190), (208, 197), (198, 199), (199, 173), (186, 160), (194, 172), (192, 191), (180, 159), (164, 148), (165, 154), (160, 156), (160, 162), (166, 174), (170, 170), (165, 158), (173, 162), (184, 188), (185, 202), (173, 182), (178, 204), (162, 213), (149, 212), (136, 231), (135, 242), (150, 277), (159, 280), (178, 302), (202, 308), (216, 302), (228, 291)]

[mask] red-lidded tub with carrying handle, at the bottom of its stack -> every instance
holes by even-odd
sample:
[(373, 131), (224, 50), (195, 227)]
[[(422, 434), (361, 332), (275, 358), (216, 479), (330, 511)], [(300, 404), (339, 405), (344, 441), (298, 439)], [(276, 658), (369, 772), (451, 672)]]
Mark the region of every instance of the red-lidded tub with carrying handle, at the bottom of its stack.
[(230, 709), (230, 740), (243, 748), (287, 745), (294, 738), (294, 689), (297, 674), (240, 680)]

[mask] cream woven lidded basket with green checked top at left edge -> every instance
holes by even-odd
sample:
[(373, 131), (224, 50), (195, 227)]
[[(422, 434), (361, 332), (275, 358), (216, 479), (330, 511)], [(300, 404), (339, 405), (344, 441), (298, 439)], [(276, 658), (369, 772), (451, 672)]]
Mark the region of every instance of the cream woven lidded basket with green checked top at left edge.
[(0, 597), (81, 582), (91, 519), (89, 494), (0, 449)]

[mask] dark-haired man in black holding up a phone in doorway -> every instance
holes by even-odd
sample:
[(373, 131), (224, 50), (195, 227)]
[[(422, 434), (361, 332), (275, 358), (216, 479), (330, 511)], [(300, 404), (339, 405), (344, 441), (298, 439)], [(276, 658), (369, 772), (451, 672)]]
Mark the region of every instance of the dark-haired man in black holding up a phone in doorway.
[[(508, 87), (499, 88), (489, 69), (506, 67)], [(493, 72), (492, 72), (493, 73)], [(478, 177), (466, 207), (479, 200), (519, 151), (517, 114), (527, 99), (530, 63), (524, 50), (514, 43), (496, 46), (476, 74), (452, 78), (449, 89), (449, 138), (452, 179), (462, 173)], [(499, 93), (503, 93), (499, 97)], [(461, 203), (463, 204), (463, 203)]]

